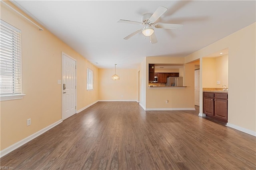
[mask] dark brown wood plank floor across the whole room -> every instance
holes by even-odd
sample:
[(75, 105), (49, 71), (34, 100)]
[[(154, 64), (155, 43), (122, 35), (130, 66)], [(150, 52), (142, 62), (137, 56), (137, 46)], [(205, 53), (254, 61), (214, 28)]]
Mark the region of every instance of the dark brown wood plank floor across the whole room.
[(14, 169), (255, 170), (256, 137), (198, 111), (98, 102), (1, 158)]

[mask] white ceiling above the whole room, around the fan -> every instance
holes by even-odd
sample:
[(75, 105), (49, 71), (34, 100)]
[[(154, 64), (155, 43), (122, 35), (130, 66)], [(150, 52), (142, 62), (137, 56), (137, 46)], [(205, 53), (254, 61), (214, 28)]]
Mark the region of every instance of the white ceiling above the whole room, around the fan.
[[(146, 56), (184, 57), (256, 22), (256, 1), (12, 1), (60, 40), (99, 68), (136, 68)], [(142, 33), (140, 21), (158, 6), (168, 8), (157, 22), (182, 30), (155, 29), (158, 42)], [(157, 23), (156, 22), (156, 23)]]

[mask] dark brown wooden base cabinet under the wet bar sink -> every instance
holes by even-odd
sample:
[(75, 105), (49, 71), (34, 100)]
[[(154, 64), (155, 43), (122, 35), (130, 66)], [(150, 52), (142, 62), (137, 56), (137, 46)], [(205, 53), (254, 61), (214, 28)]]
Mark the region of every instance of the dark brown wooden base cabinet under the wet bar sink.
[(228, 122), (228, 93), (204, 92), (204, 114)]

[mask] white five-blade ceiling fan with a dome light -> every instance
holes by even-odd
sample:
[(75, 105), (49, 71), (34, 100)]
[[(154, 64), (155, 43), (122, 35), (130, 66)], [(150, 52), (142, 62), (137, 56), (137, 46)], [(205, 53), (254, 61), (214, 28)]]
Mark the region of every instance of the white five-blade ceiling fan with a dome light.
[(139, 32), (142, 32), (144, 36), (150, 36), (150, 42), (151, 43), (157, 43), (156, 35), (154, 34), (154, 28), (164, 28), (164, 29), (174, 29), (174, 30), (181, 30), (183, 25), (182, 24), (164, 24), (164, 23), (158, 23), (155, 24), (156, 20), (160, 18), (168, 9), (159, 6), (156, 11), (153, 14), (146, 13), (142, 16), (141, 22), (136, 21), (130, 21), (130, 20), (118, 20), (118, 23), (124, 23), (124, 24), (136, 24), (136, 25), (143, 25), (144, 27), (141, 29), (136, 30), (132, 34), (126, 36), (124, 40), (128, 40), (135, 34), (138, 34)]

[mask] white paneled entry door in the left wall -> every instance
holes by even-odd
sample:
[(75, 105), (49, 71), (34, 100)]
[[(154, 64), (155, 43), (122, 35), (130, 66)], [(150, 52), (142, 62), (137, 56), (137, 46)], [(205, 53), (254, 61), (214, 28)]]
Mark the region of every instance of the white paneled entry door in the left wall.
[(76, 61), (62, 53), (62, 120), (76, 113)]

